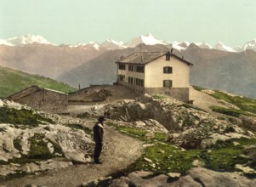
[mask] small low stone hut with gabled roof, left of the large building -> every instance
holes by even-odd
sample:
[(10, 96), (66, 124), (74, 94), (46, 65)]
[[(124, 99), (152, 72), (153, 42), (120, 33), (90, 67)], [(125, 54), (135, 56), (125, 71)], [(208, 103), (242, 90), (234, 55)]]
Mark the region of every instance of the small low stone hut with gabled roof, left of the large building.
[(34, 85), (10, 95), (8, 99), (40, 111), (60, 113), (67, 110), (67, 97), (68, 94)]

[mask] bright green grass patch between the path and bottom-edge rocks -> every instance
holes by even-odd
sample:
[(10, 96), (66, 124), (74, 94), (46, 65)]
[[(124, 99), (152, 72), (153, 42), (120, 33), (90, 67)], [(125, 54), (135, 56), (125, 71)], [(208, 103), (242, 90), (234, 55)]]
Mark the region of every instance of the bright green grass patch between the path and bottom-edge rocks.
[[(239, 143), (236, 145), (233, 142)], [(235, 172), (236, 164), (247, 164), (256, 168), (251, 159), (244, 156), (244, 146), (256, 144), (256, 139), (230, 139), (219, 142), (208, 150), (181, 150), (172, 144), (158, 142), (146, 147), (144, 153), (137, 161), (129, 166), (123, 173), (131, 173), (138, 170), (154, 173), (185, 173), (193, 166), (193, 161), (202, 161), (209, 169), (215, 171)], [(149, 160), (148, 160), (149, 159)]]

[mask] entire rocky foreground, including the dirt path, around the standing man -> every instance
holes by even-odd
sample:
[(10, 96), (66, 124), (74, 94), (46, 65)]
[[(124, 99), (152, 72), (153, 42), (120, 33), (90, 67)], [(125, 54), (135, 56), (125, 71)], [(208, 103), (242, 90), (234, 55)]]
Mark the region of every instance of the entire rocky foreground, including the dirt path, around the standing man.
[[(84, 106), (77, 105), (76, 108), (73, 105), (67, 116), (33, 111), (45, 117), (38, 119), (34, 127), (2, 122), (1, 179), (25, 173), (26, 177), (5, 179), (1, 184), (254, 186), (255, 179), (247, 177), (256, 176), (255, 118), (215, 113), (210, 110), (212, 105), (231, 109), (237, 109), (237, 106), (196, 90), (191, 94), (194, 105), (162, 95), (146, 95), (135, 100), (118, 99), (111, 103), (87, 105), (87, 110), (82, 109)], [(2, 100), (1, 107), (13, 111), (24, 109), (24, 106)], [(91, 129), (96, 116), (103, 114), (111, 117), (105, 127), (104, 163), (94, 165), (89, 163), (94, 147)], [(47, 151), (40, 150), (45, 151), (43, 156), (47, 159), (38, 157), (35, 152), (39, 150), (32, 146), (34, 142), (39, 147), (47, 147)], [(229, 151), (230, 155), (219, 161), (219, 157)], [(221, 162), (229, 157), (233, 160)], [(20, 158), (36, 160), (18, 161)], [(133, 162), (133, 167), (128, 167)], [(125, 168), (129, 169), (118, 172)], [(219, 173), (227, 172), (227, 168), (229, 173)], [(106, 178), (111, 173), (116, 177)]]

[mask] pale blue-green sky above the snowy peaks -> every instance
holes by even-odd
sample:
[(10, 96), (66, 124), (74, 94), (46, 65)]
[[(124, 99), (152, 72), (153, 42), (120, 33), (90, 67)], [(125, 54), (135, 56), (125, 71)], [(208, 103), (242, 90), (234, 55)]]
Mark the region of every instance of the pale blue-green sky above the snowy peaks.
[(221, 41), (235, 47), (256, 39), (255, 0), (0, 0), (0, 38), (41, 35), (49, 42), (157, 39)]

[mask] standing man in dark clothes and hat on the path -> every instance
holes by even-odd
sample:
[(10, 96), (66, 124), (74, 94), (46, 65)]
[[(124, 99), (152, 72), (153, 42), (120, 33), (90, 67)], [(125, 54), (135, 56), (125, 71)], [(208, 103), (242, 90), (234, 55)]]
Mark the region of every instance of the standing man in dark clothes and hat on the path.
[(94, 163), (102, 164), (100, 161), (100, 153), (102, 150), (103, 144), (103, 122), (105, 121), (104, 116), (100, 116), (98, 118), (98, 122), (94, 125), (94, 141), (95, 141), (95, 148), (94, 148)]

